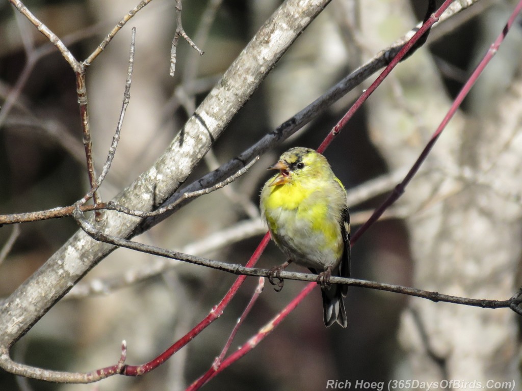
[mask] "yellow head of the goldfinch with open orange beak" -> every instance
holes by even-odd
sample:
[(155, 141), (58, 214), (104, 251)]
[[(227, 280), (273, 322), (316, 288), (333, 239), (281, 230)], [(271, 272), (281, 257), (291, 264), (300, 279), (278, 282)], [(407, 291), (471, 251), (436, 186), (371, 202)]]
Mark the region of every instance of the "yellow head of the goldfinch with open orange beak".
[(297, 146), (284, 152), (279, 161), (268, 169), (278, 169), (279, 174), (268, 186), (291, 183), (295, 178), (318, 177), (325, 168), (329, 169), (326, 158), (310, 148)]

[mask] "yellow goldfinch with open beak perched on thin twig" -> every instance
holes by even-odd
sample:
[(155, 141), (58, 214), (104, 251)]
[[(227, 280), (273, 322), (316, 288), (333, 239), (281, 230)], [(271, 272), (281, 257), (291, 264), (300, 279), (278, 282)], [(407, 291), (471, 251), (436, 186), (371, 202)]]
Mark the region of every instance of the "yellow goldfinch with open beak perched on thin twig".
[[(270, 282), (291, 262), (318, 274), (326, 327), (347, 326), (348, 285), (329, 284), (331, 275), (350, 275), (350, 216), (346, 190), (326, 158), (309, 148), (284, 152), (269, 167), (279, 173), (261, 190), (260, 209), (272, 239), (288, 261), (270, 271)], [(282, 288), (280, 279), (279, 287)]]

